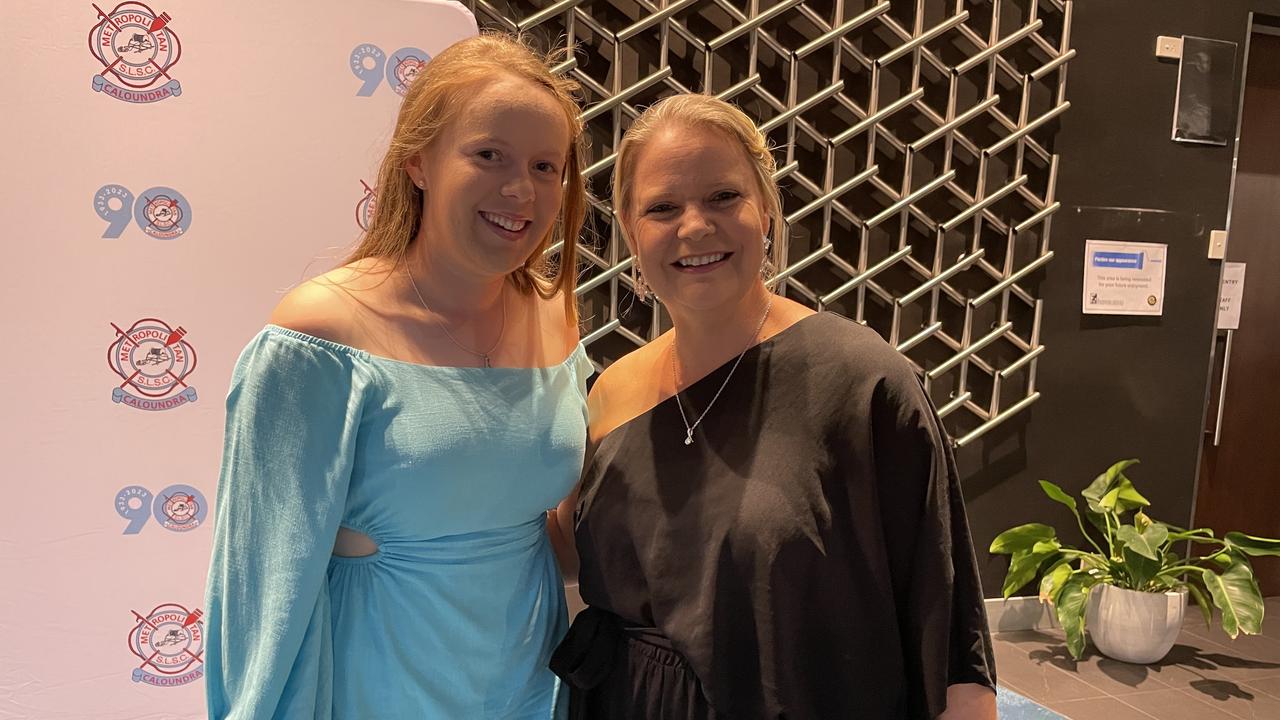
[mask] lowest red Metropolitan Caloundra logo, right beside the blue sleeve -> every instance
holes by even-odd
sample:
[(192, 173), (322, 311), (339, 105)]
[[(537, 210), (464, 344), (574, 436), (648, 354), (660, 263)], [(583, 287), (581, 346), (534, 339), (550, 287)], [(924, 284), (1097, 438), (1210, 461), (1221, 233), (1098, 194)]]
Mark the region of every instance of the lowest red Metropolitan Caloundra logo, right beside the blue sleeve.
[(173, 688), (205, 676), (202, 610), (187, 611), (170, 602), (146, 615), (131, 612), (129, 650), (142, 661), (133, 669), (134, 683)]

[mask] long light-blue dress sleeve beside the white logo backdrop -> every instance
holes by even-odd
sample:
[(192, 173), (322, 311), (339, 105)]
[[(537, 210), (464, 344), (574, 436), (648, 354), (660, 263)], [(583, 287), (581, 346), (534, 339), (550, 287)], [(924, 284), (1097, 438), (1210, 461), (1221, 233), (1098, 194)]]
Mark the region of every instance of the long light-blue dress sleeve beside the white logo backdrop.
[(328, 720), (325, 571), (367, 383), (349, 348), (282, 328), (241, 354), (227, 398), (206, 589), (211, 720)]

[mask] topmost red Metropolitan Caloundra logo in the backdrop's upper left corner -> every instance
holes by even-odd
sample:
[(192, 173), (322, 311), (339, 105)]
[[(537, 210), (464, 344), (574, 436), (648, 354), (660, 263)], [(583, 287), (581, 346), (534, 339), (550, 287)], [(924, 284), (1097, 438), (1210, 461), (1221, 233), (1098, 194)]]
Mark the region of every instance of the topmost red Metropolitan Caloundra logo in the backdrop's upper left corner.
[(169, 74), (182, 58), (169, 13), (142, 3), (120, 3), (110, 13), (96, 4), (93, 9), (97, 23), (88, 31), (88, 50), (102, 63), (93, 76), (96, 92), (138, 104), (182, 95), (182, 85)]

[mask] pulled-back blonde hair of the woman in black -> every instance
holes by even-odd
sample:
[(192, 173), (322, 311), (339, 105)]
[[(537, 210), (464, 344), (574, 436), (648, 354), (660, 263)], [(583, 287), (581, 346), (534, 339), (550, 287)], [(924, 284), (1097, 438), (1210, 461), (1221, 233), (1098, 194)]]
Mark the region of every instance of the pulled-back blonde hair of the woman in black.
[(742, 110), (712, 95), (685, 92), (664, 97), (645, 109), (631, 123), (618, 145), (618, 156), (613, 167), (614, 211), (625, 220), (632, 217), (631, 204), (635, 200), (635, 191), (631, 181), (636, 170), (636, 159), (653, 136), (669, 124), (710, 129), (742, 147), (742, 152), (751, 161), (756, 190), (769, 217), (767, 237), (773, 241), (773, 246), (765, 258), (769, 265), (767, 274), (781, 266), (783, 249), (778, 242), (778, 233), (782, 227), (782, 195), (773, 179), (777, 161), (769, 149), (769, 141)]

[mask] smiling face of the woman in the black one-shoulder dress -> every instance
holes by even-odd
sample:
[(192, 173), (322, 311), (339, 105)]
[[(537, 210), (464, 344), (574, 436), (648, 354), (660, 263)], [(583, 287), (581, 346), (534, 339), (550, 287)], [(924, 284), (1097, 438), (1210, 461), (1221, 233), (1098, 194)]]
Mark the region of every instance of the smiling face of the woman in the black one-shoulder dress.
[(769, 217), (741, 143), (672, 123), (639, 149), (622, 222), (640, 272), (673, 313), (731, 311), (762, 286)]

